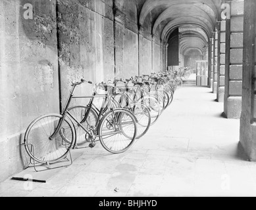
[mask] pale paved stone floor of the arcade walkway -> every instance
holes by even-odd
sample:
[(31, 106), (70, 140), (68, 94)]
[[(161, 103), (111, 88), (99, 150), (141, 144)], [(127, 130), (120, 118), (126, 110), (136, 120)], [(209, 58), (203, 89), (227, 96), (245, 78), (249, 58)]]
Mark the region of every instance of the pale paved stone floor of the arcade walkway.
[(109, 154), (97, 144), (47, 183), (7, 179), (0, 195), (256, 196), (256, 163), (238, 156), (240, 121), (222, 117), (223, 104), (215, 97), (206, 87), (182, 87), (124, 154)]

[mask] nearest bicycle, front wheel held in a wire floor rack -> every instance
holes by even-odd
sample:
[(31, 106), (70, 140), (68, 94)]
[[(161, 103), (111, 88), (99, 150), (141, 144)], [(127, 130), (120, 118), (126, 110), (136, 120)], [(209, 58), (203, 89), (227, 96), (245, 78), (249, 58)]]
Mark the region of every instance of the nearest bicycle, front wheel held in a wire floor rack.
[[(24, 146), (30, 158), (38, 163), (57, 163), (66, 158), (68, 151), (75, 148), (77, 135), (75, 127), (80, 127), (84, 131), (84, 137), (90, 142), (91, 147), (95, 146), (95, 139), (99, 138), (105, 150), (113, 154), (125, 152), (136, 140), (137, 126), (136, 118), (131, 112), (125, 109), (111, 109), (103, 116), (102, 107), (96, 119), (95, 127), (84, 127), (83, 122), (88, 121), (91, 113), (91, 103), (86, 106), (88, 109), (81, 119), (76, 119), (69, 111), (68, 107), (74, 97), (74, 91), (82, 83), (91, 83), (81, 79), (80, 82), (72, 82), (72, 89), (66, 105), (61, 114), (46, 114), (40, 116), (26, 129), (24, 135)], [(91, 96), (95, 98), (94, 96)], [(106, 96), (107, 97), (107, 96)], [(105, 97), (105, 98), (106, 98)], [(107, 99), (106, 99), (107, 100)], [(76, 125), (75, 125), (76, 123)], [(79, 135), (81, 135), (79, 133)], [(29, 146), (33, 145), (30, 149)]]

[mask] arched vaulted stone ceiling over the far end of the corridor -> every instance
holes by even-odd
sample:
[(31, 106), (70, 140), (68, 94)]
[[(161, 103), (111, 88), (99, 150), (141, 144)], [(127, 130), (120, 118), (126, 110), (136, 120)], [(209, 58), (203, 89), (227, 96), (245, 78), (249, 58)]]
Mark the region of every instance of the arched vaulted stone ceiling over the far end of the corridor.
[(180, 51), (203, 51), (220, 20), (222, 0), (134, 0), (140, 26), (161, 41), (180, 28)]

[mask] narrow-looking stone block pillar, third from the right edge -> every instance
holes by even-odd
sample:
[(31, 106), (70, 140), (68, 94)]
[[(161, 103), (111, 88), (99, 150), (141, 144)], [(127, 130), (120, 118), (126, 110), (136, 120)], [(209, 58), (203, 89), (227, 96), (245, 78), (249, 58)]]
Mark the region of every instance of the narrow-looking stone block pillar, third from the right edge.
[(225, 91), (225, 53), (226, 53), (226, 21), (220, 22), (220, 58), (218, 67), (218, 102), (224, 102)]

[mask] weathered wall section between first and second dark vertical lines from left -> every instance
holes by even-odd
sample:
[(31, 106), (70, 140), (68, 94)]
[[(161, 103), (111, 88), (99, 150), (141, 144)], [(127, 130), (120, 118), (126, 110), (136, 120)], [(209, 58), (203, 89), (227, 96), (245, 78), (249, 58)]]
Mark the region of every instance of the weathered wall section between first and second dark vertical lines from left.
[[(57, 1), (59, 68), (62, 105), (70, 82), (82, 77), (101, 82), (114, 77), (112, 1)], [(91, 85), (78, 87), (91, 94)]]

